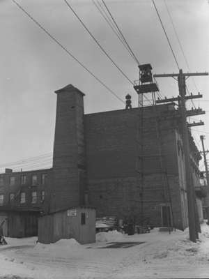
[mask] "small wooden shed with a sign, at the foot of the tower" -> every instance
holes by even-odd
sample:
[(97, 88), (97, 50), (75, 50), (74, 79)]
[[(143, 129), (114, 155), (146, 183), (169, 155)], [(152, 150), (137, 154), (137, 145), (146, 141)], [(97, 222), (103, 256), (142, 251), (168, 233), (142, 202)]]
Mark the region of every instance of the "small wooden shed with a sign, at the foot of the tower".
[(95, 209), (79, 206), (38, 218), (38, 241), (48, 244), (59, 239), (95, 242)]

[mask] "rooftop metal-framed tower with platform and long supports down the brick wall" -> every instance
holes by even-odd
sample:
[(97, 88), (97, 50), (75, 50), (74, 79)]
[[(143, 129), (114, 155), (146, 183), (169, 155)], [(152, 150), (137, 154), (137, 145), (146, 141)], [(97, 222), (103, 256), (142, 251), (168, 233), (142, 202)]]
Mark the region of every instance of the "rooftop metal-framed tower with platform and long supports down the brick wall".
[[(139, 80), (134, 81), (134, 89), (138, 94), (138, 107), (139, 107), (139, 126), (137, 128), (137, 173), (139, 183), (139, 201), (141, 207), (141, 227), (144, 227), (146, 218), (144, 218), (144, 159), (151, 157), (152, 154), (145, 153), (144, 144), (144, 107), (147, 105), (153, 108), (153, 117), (155, 118), (155, 133), (157, 137), (158, 151), (157, 157), (160, 160), (160, 172), (162, 175), (162, 187), (164, 190), (164, 204), (167, 206), (167, 224), (169, 227), (169, 233), (171, 232), (171, 226), (173, 224), (173, 209), (171, 203), (171, 193), (169, 187), (169, 179), (167, 175), (167, 167), (164, 163), (162, 156), (162, 136), (160, 132), (160, 115), (156, 110), (156, 98), (155, 93), (159, 91), (158, 86), (153, 82), (152, 66), (148, 64), (139, 65)], [(156, 156), (156, 154), (155, 154)], [(171, 216), (171, 220), (169, 220)]]

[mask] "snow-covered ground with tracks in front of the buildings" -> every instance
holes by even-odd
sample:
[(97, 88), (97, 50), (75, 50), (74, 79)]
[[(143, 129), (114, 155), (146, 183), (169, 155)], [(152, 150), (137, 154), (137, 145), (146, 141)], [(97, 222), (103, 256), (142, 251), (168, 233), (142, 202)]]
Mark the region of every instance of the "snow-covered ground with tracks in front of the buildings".
[[(7, 238), (8, 246), (0, 246), (0, 278), (209, 278), (209, 226), (201, 230), (197, 243), (189, 241), (187, 229), (134, 236), (100, 232), (96, 243), (86, 245)], [(122, 248), (105, 248), (113, 242)]]

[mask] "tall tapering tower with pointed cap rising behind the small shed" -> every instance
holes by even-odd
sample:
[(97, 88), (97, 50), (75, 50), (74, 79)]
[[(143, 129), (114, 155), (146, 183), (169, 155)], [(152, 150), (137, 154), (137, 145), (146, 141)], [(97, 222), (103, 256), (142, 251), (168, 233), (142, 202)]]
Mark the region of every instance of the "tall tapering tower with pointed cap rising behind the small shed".
[(50, 212), (84, 205), (84, 93), (72, 84), (55, 91), (56, 127)]

